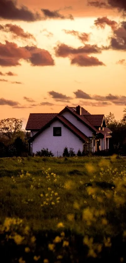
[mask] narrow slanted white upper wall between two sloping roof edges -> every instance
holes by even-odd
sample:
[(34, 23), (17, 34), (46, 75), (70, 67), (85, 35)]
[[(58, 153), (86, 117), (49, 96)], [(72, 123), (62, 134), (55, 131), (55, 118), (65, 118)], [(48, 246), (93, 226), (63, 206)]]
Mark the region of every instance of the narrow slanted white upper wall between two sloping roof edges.
[(67, 120), (69, 120), (74, 126), (76, 126), (80, 131), (82, 131), (86, 136), (91, 137), (93, 136), (93, 131), (90, 130), (86, 125), (82, 122), (78, 121), (76, 117), (74, 117), (69, 112), (64, 112), (62, 114)]

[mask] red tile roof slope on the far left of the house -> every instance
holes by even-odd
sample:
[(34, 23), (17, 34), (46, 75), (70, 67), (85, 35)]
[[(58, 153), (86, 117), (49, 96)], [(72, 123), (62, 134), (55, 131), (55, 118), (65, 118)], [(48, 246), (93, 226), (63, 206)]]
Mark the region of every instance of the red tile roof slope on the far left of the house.
[(58, 113), (30, 113), (26, 130), (39, 130)]

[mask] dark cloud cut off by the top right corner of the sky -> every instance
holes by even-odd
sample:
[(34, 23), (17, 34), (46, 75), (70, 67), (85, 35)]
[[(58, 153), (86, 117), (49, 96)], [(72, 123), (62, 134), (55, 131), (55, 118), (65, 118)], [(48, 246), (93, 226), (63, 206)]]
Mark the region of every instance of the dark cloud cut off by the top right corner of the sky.
[(88, 4), (99, 8), (117, 8), (118, 11), (126, 11), (125, 0), (88, 0)]

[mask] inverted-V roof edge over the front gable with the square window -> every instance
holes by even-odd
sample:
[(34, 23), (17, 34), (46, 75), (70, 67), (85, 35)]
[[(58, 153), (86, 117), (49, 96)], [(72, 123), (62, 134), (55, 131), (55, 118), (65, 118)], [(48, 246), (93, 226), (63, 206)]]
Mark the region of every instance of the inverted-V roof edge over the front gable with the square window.
[(64, 126), (66, 126), (73, 134), (75, 134), (79, 139), (82, 141), (88, 142), (88, 137), (83, 134), (78, 128), (76, 128), (71, 122), (69, 122), (64, 116), (58, 116), (56, 115), (52, 120), (50, 120), (47, 124), (45, 124), (42, 129), (40, 129), (30, 140), (29, 142), (32, 142), (39, 134), (43, 132), (51, 123), (53, 123), (55, 120), (59, 120)]

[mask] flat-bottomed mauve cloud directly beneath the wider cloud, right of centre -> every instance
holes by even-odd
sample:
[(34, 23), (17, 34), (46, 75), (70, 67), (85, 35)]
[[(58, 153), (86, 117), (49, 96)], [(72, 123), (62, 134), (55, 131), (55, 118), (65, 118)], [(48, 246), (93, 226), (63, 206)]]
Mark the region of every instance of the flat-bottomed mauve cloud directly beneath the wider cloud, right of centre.
[(88, 55), (77, 55), (71, 59), (71, 64), (76, 64), (81, 67), (91, 66), (105, 66), (102, 61), (99, 61), (96, 57), (89, 57)]

